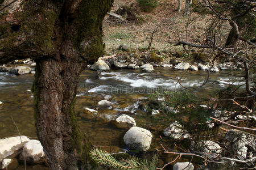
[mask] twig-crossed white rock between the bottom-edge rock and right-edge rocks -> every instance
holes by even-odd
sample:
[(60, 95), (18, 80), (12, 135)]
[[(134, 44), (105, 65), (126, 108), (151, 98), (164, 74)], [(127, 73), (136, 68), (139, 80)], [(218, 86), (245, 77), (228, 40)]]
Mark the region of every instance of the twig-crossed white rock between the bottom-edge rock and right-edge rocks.
[(193, 141), (191, 150), (205, 152), (210, 159), (217, 158), (222, 152), (220, 145), (213, 141)]

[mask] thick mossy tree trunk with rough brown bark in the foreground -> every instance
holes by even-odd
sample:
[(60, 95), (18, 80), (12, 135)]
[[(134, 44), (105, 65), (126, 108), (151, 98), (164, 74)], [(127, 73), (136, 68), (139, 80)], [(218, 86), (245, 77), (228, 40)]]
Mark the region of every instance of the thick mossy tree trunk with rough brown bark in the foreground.
[(97, 167), (74, 104), (81, 71), (102, 53), (102, 20), (112, 3), (27, 0), (22, 11), (0, 16), (0, 64), (36, 61), (35, 125), (51, 169)]

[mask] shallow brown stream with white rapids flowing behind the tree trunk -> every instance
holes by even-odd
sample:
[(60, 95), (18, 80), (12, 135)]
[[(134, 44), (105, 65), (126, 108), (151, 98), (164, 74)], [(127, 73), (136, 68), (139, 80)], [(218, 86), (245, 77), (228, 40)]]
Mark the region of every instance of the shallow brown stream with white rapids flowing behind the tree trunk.
[[(139, 117), (137, 110), (142, 99), (154, 91), (180, 90), (177, 77), (185, 87), (197, 87), (207, 76), (205, 71), (179, 71), (170, 68), (155, 68), (152, 73), (140, 70), (112, 70), (96, 76), (95, 71), (85, 70), (80, 76), (77, 91), (76, 112), (79, 126), (86, 132), (93, 145), (103, 146), (112, 152), (120, 151), (123, 146), (123, 135), (127, 129), (117, 129), (108, 123), (123, 113), (135, 118), (137, 126), (143, 127), (147, 122)], [(36, 137), (33, 118), (33, 95), (31, 93), (33, 74), (13, 75), (0, 73), (0, 138), (12, 135)], [(238, 80), (232, 82), (233, 80)], [(208, 95), (209, 91), (228, 87), (231, 83), (243, 83), (230, 76), (226, 71), (211, 73), (208, 83), (199, 90), (199, 95)], [(109, 101), (114, 109), (105, 109), (101, 114), (92, 116), (84, 112), (84, 108), (95, 108), (98, 101), (110, 95)], [(16, 125), (16, 126), (15, 126)], [(153, 135), (159, 135), (158, 127), (152, 127)], [(155, 138), (155, 137), (154, 137)], [(152, 146), (154, 146), (154, 138)], [(23, 167), (20, 166), (22, 169)]]

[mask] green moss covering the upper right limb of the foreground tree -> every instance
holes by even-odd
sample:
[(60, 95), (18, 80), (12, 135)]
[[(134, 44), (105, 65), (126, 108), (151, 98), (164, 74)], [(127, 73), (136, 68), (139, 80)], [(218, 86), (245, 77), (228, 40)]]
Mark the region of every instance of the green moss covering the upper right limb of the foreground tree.
[(81, 56), (89, 62), (100, 57), (104, 47), (102, 42), (102, 21), (110, 10), (113, 0), (82, 1), (74, 20), (73, 44), (81, 51)]

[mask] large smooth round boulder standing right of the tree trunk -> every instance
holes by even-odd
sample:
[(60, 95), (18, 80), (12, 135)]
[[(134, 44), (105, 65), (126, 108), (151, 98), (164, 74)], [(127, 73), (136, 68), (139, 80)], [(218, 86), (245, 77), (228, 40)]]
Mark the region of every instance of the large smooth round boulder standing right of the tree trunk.
[(123, 141), (131, 150), (144, 152), (150, 148), (152, 134), (147, 129), (134, 126), (126, 132)]

